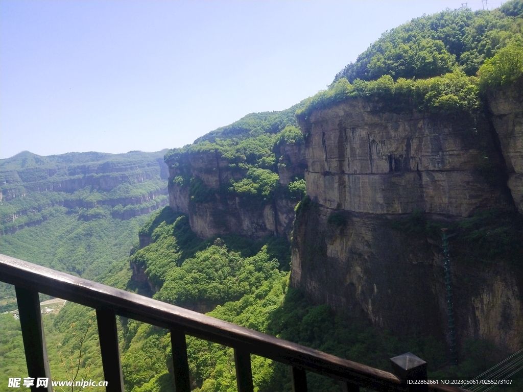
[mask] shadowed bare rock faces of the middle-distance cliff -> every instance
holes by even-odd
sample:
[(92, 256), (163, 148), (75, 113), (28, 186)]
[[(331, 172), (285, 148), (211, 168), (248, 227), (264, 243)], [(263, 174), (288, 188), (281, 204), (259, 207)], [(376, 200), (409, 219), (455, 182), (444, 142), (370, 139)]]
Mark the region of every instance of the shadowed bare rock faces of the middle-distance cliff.
[[(303, 175), (304, 153), (302, 145), (280, 147), (278, 173), (281, 185), (287, 185), (294, 176)], [(169, 205), (174, 211), (189, 215), (191, 229), (199, 237), (236, 233), (256, 239), (268, 235), (290, 239), (298, 201), (276, 195), (274, 200), (253, 204), (221, 192), (220, 189), (229, 186), (230, 180), (245, 178), (247, 170), (231, 165), (220, 153), (187, 154), (168, 161), (167, 165)], [(191, 199), (190, 178), (200, 179), (210, 190), (211, 197), (204, 202)]]

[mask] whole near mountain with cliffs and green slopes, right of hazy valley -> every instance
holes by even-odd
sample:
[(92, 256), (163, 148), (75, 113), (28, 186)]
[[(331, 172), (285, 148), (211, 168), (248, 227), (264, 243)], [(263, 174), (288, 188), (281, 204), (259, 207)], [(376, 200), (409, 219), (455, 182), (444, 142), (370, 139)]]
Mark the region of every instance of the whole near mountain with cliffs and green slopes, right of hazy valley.
[[(169, 206), (96, 279), (384, 370), (411, 351), (429, 378), (474, 378), (521, 349), (522, 13), (513, 0), (414, 19), (314, 97), (167, 151)], [(30, 183), (51, 181), (41, 173)], [(88, 192), (63, 191), (61, 208), (67, 200), (82, 222), (120, 219), (120, 199), (89, 181)], [(51, 186), (18, 187), (4, 197)], [(84, 217), (96, 209), (106, 215)], [(66, 347), (67, 326), (88, 316), (74, 305), (56, 316)], [(172, 391), (168, 331), (119, 322), (126, 389)], [(95, 331), (86, 337), (94, 358)], [(193, 390), (234, 388), (231, 349), (187, 345)], [(252, 363), (257, 390), (290, 390), (287, 367)], [(308, 385), (341, 390), (317, 375)]]

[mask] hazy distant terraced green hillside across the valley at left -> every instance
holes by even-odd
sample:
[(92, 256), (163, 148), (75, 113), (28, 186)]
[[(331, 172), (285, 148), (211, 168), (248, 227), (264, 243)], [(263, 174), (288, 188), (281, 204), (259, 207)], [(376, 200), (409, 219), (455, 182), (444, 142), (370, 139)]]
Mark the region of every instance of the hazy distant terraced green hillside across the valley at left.
[[(0, 160), (1, 252), (98, 279), (129, 255), (146, 215), (167, 203), (163, 153), (26, 151)], [(0, 312), (16, 307), (3, 283), (0, 298)]]

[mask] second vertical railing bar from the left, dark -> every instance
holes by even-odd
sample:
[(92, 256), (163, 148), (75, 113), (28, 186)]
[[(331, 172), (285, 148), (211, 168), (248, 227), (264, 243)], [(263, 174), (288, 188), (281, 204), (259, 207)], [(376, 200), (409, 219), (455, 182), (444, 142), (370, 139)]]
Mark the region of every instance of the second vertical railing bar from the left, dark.
[(118, 347), (118, 329), (116, 316), (112, 310), (97, 308), (96, 322), (100, 338), (101, 362), (107, 392), (124, 392), (120, 348)]

